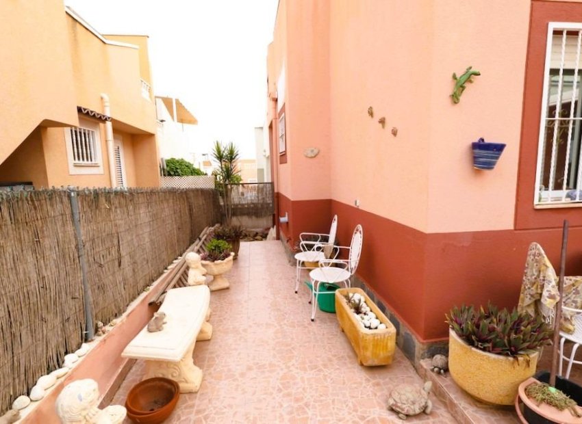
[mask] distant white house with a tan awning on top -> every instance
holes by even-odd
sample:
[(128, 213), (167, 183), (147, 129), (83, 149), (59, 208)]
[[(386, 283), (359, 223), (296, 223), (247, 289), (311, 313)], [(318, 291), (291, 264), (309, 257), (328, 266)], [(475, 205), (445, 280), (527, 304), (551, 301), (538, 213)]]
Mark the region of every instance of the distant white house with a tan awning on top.
[(198, 120), (178, 98), (155, 96), (160, 157), (196, 161), (194, 125)]

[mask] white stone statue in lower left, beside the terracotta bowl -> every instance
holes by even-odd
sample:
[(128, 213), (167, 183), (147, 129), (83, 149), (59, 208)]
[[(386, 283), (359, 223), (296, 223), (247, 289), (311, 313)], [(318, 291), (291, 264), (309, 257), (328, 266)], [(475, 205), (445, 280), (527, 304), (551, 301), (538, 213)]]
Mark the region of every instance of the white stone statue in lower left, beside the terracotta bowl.
[(75, 380), (67, 384), (56, 402), (57, 415), (63, 424), (121, 424), (127, 410), (120, 405), (100, 410), (99, 386), (95, 380)]

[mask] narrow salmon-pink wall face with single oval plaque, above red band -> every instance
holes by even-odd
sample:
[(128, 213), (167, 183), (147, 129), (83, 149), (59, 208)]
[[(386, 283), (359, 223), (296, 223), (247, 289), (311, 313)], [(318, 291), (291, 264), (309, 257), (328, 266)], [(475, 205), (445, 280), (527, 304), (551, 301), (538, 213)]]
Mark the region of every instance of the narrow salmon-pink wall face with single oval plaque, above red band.
[[(287, 161), (281, 191), (293, 200), (329, 198), (329, 1), (287, 3)], [(317, 157), (303, 155), (319, 148)], [(287, 172), (290, 170), (290, 172)], [(289, 179), (290, 185), (282, 180)], [(284, 187), (284, 189), (283, 189)], [(287, 190), (290, 191), (287, 191)]]

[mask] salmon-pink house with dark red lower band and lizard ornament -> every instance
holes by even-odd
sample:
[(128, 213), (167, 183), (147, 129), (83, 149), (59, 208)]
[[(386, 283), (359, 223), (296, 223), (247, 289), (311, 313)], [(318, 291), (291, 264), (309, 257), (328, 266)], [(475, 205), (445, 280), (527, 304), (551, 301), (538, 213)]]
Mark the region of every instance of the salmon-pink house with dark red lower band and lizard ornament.
[[(357, 275), (420, 342), (446, 338), (453, 305), (515, 306), (529, 243), (558, 267), (564, 219), (581, 275), (581, 34), (581, 1), (280, 0), (267, 122), (281, 239), (326, 233), (337, 213), (346, 245), (362, 224)], [(454, 104), (468, 66), (481, 75)], [(507, 144), (494, 170), (472, 166), (479, 137)]]

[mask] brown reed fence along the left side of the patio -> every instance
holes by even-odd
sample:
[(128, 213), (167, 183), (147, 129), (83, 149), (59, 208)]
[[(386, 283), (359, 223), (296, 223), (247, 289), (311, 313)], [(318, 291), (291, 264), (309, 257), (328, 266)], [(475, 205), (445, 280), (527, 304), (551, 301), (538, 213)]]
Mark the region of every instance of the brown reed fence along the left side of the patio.
[(110, 322), (220, 221), (215, 190), (76, 191), (90, 288), (86, 320), (71, 192), (0, 193), (0, 412)]

